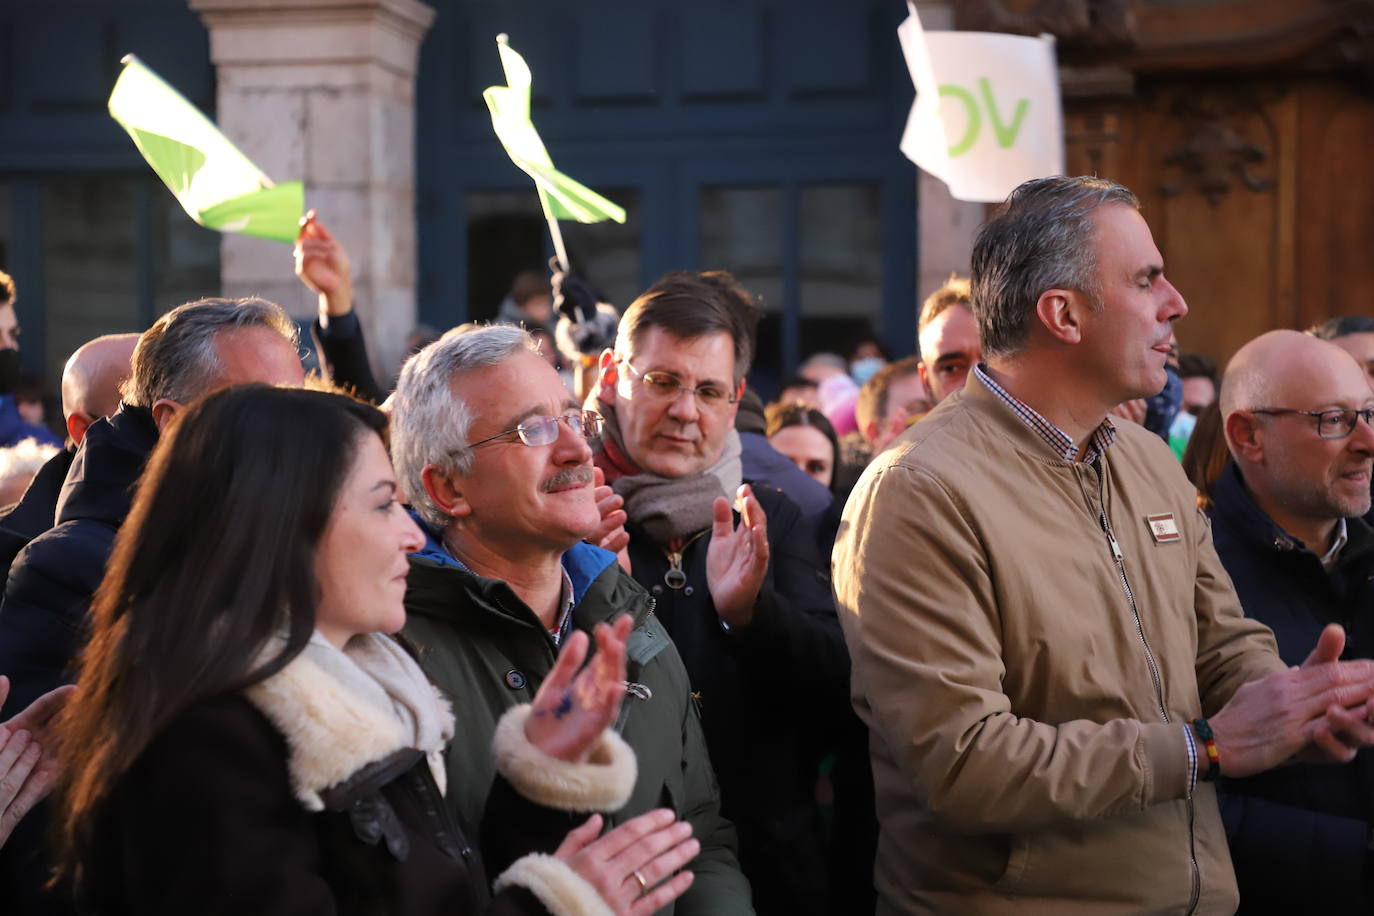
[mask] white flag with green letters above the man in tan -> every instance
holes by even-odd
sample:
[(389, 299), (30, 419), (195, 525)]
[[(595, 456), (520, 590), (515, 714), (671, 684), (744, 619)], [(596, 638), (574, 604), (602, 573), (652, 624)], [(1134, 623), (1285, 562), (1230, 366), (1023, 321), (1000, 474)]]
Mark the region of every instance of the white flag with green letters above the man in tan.
[(901, 151), (960, 201), (1000, 202), (1022, 181), (1063, 174), (1054, 36), (897, 27), (916, 87)]

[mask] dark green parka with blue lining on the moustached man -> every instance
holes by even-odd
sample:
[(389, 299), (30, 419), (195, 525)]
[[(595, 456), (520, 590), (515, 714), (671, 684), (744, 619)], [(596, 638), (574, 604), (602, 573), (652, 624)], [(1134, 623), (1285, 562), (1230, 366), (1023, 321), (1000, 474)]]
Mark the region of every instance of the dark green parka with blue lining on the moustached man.
[[(511, 706), (533, 700), (558, 647), (506, 582), (471, 573), (433, 534), (427, 540), (425, 549), (411, 555), (404, 636), (453, 705), (458, 729), (448, 747), (448, 802), (475, 825), (495, 776), (489, 747), (496, 722)], [(598, 547), (574, 545), (563, 555), (563, 569), (573, 584), (577, 629), (589, 633), (621, 612), (635, 615), (627, 645), (631, 687), (616, 729), (635, 750), (639, 779), (629, 803), (607, 820), (614, 825), (672, 808), (691, 821), (701, 842), (701, 854), (688, 867), (695, 880), (662, 913), (753, 913), (749, 882), (736, 858), (735, 827), (720, 816), (720, 792), (687, 670), (653, 614), (654, 599), (613, 553)]]

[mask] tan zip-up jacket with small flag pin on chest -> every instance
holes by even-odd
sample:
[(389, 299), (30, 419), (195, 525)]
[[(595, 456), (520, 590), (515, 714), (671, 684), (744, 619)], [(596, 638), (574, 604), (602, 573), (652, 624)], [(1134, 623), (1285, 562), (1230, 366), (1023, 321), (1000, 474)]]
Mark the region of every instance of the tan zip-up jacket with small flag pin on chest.
[(1283, 663), (1168, 446), (1117, 430), (1099, 481), (970, 376), (849, 499), (834, 588), (872, 733), (879, 913), (1237, 906), (1216, 794), (1186, 798), (1183, 724)]

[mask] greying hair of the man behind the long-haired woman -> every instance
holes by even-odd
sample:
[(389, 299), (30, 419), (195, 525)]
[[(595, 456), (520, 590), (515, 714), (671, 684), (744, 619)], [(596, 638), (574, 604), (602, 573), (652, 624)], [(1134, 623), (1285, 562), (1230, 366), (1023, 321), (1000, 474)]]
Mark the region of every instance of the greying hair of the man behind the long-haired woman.
[(153, 407), (162, 398), (188, 404), (206, 394), (224, 371), (214, 335), (236, 328), (276, 331), (293, 347), (301, 345), (295, 323), (267, 299), (196, 299), (179, 305), (153, 323), (133, 347), (133, 365), (120, 391), (132, 407)]

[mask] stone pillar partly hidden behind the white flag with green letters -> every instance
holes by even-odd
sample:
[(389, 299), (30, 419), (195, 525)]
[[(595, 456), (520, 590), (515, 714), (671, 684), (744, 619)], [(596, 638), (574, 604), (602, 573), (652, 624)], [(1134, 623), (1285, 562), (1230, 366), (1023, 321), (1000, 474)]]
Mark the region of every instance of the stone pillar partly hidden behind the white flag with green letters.
[[(927, 32), (954, 29), (954, 4), (948, 0), (916, 0), (916, 8), (921, 12), (921, 26)], [(955, 201), (944, 181), (923, 169), (918, 169), (918, 174), (916, 295), (923, 301), (944, 286), (951, 273), (969, 276), (973, 238), (982, 225), (985, 206)]]

